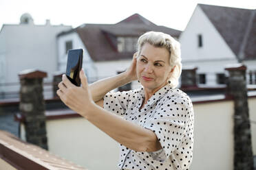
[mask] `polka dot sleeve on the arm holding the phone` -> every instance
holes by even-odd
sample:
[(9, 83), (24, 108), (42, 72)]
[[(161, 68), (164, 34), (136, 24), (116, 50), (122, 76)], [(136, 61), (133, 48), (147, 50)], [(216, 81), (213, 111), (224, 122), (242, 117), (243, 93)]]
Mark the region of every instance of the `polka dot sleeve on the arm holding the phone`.
[(188, 129), (192, 103), (189, 97), (168, 97), (145, 125), (160, 141), (166, 158), (177, 149)]

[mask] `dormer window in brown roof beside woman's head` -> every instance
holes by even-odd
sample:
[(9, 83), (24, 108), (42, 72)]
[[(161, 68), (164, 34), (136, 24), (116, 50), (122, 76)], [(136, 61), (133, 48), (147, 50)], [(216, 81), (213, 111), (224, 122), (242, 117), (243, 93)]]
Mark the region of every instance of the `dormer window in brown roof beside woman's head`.
[(135, 52), (137, 37), (118, 37), (118, 52)]

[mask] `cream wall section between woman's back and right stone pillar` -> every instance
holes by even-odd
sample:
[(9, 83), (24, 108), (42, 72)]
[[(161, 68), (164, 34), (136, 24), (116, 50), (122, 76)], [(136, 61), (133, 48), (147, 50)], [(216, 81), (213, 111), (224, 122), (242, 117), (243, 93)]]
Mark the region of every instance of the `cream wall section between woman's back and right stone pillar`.
[(233, 101), (193, 104), (194, 147), (189, 169), (233, 169), (233, 107)]

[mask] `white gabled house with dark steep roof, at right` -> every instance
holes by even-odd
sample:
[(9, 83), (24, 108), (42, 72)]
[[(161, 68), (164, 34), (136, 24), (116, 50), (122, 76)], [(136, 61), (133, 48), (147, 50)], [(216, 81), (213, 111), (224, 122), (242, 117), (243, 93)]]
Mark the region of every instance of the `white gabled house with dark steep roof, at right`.
[(244, 63), (256, 84), (256, 10), (198, 4), (180, 35), (182, 64), (197, 66), (199, 83), (224, 84), (224, 67)]

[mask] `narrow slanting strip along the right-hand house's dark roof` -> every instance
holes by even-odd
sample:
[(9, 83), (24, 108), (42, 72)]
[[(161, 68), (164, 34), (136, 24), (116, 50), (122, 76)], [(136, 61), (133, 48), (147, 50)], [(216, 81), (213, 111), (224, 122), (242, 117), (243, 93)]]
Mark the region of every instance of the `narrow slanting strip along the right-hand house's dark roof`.
[(255, 17), (255, 13), (256, 13), (256, 10), (252, 10), (252, 12), (250, 14), (250, 19), (248, 21), (248, 25), (246, 27), (247, 29), (246, 29), (246, 32), (244, 34), (244, 39), (242, 41), (242, 45), (241, 45), (239, 53), (237, 55), (237, 59), (239, 60), (239, 62), (241, 62), (241, 60), (244, 58), (244, 49), (245, 49), (245, 47), (247, 45), (247, 42), (248, 42), (248, 36), (250, 34), (250, 30), (253, 27), (253, 19)]

